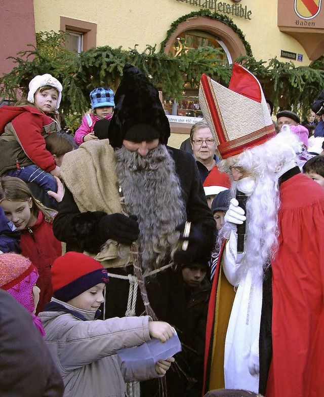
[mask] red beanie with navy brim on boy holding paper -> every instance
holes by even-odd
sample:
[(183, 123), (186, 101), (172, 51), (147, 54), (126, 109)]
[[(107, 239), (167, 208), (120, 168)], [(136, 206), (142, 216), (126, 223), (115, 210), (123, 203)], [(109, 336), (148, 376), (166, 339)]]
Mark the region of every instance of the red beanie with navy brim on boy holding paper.
[(54, 298), (67, 302), (100, 283), (108, 283), (107, 270), (90, 256), (67, 252), (52, 269)]

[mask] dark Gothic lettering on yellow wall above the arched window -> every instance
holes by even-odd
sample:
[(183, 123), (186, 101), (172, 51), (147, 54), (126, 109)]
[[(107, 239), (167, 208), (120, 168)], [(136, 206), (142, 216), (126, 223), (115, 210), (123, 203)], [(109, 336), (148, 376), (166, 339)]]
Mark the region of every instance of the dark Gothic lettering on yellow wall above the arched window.
[(235, 16), (238, 18), (244, 18), (251, 20), (252, 11), (248, 10), (247, 6), (242, 6), (240, 1), (235, 0), (235, 4), (228, 4), (226, 2), (220, 2), (218, 0), (176, 0), (181, 3), (188, 3), (192, 6), (199, 7), (201, 9), (208, 8), (209, 10)]

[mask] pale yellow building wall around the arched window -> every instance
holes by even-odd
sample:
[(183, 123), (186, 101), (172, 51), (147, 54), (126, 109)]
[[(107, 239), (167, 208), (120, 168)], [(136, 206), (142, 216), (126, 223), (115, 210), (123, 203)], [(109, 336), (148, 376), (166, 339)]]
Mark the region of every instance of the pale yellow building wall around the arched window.
[[(232, 0), (226, 0), (229, 5)], [(237, 3), (236, 3), (237, 4)], [(303, 62), (310, 61), (302, 46), (290, 35), (277, 27), (276, 0), (242, 0), (242, 6), (252, 11), (251, 20), (232, 16), (233, 22), (245, 34), (257, 60), (278, 57), (280, 51), (303, 54)], [(293, 4), (293, 2), (292, 2)], [(134, 48), (142, 51), (146, 44), (159, 44), (166, 38), (172, 22), (199, 8), (177, 0), (34, 0), (36, 31), (58, 31), (60, 16), (97, 24), (97, 46)]]

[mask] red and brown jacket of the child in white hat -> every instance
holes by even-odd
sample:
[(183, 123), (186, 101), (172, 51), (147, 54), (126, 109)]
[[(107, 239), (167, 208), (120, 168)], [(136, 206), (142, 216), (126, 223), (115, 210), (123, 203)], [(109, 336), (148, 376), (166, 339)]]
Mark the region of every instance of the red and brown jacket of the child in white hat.
[(53, 118), (33, 106), (2, 106), (0, 109), (0, 173), (36, 164), (50, 172), (56, 167), (53, 155), (46, 150), (45, 137), (58, 132)]

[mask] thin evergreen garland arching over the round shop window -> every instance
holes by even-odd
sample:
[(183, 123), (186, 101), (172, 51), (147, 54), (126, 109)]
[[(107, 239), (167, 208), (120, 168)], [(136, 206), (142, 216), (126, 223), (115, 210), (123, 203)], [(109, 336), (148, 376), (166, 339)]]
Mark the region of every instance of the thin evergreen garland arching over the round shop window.
[(218, 14), (217, 12), (211, 12), (210, 10), (204, 10), (204, 9), (199, 11), (192, 11), (191, 13), (183, 15), (182, 17), (178, 18), (176, 21), (172, 22), (171, 28), (167, 31), (167, 37), (161, 43), (160, 53), (164, 52), (164, 48), (167, 45), (169, 38), (171, 37), (171, 35), (177, 29), (177, 27), (181, 22), (185, 22), (188, 19), (198, 18), (198, 17), (214, 19), (216, 21), (225, 23), (225, 25), (228, 25), (238, 35), (238, 37), (244, 44), (244, 47), (247, 51), (247, 55), (252, 57), (252, 50), (250, 44), (246, 41), (245, 35), (241, 31), (241, 29), (235, 25), (233, 20), (229, 18), (227, 15)]

